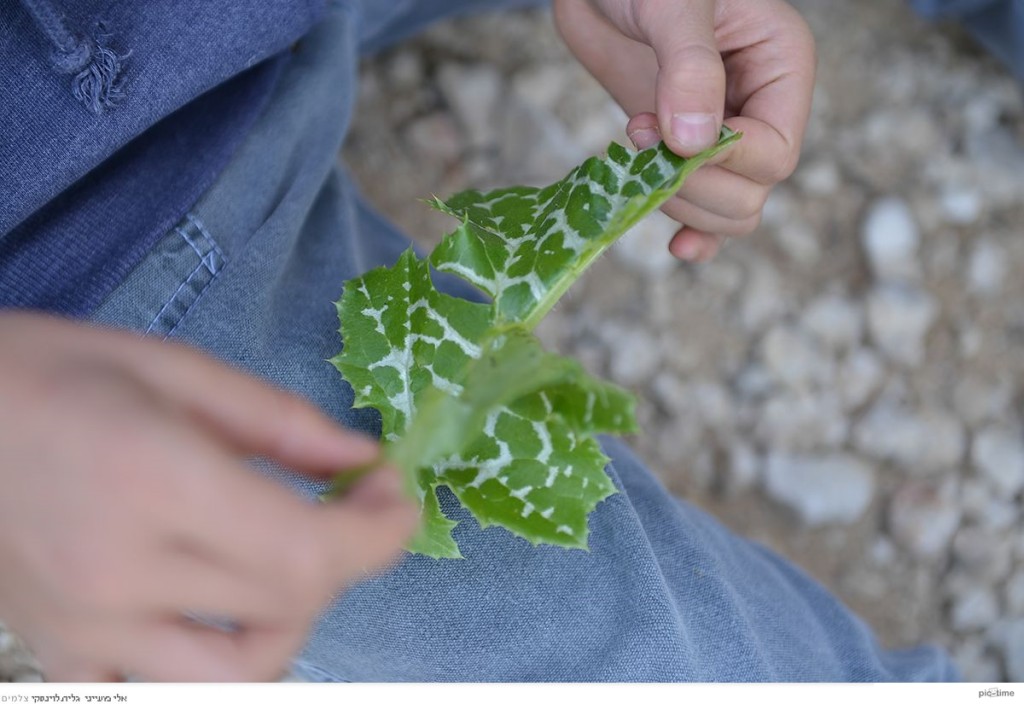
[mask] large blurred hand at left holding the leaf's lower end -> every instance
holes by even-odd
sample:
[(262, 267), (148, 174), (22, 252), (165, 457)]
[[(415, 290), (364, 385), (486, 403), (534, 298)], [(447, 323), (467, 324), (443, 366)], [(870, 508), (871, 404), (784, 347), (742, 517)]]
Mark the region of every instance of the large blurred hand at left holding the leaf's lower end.
[(415, 529), (389, 472), (310, 504), (246, 466), (377, 456), (289, 394), (42, 316), (0, 314), (0, 619), (52, 679), (278, 677), (331, 597)]

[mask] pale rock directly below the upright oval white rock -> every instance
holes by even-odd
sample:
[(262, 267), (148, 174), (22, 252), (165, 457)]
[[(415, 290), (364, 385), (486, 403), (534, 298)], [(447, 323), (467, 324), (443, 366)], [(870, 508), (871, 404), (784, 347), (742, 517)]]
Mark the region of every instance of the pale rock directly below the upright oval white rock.
[(867, 299), (871, 340), (890, 359), (916, 366), (925, 358), (925, 338), (938, 315), (935, 300), (922, 289), (883, 284)]

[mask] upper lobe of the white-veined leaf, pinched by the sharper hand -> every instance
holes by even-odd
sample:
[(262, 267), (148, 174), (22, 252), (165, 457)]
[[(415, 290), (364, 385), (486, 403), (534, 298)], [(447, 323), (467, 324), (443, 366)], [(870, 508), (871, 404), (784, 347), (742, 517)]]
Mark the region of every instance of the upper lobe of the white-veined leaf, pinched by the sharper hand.
[(463, 224), (430, 262), (488, 294), (499, 319), (532, 328), (601, 253), (739, 136), (723, 128), (718, 144), (692, 159), (664, 143), (643, 151), (612, 143), (604, 159), (588, 159), (545, 188), (434, 200)]

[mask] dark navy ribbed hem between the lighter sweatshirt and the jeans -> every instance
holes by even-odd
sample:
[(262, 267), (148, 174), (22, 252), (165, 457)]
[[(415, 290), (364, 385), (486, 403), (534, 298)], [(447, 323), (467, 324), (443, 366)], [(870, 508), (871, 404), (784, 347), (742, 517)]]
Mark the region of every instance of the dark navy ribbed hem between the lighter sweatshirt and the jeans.
[(0, 307), (72, 316), (95, 308), (210, 187), (287, 59), (184, 105), (0, 235)]

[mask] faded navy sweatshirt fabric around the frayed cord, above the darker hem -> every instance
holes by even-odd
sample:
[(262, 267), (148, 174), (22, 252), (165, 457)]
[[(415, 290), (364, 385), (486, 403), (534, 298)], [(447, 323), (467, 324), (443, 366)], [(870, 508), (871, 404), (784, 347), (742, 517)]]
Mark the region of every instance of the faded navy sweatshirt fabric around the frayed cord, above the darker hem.
[(160, 119), (280, 53), (324, 0), (63, 0), (70, 26), (124, 61), (127, 98), (96, 116), (54, 71), (51, 47), (18, 2), (0, 3), (0, 233), (34, 213)]

